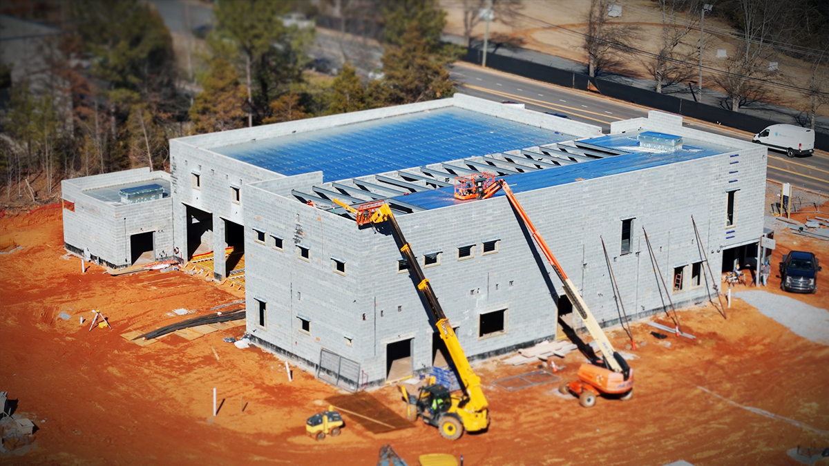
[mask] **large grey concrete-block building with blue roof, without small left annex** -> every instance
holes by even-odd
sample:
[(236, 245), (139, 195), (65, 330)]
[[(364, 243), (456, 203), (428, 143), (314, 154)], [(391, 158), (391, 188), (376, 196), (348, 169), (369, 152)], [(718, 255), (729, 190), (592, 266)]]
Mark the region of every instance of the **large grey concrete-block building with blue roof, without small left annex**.
[(667, 294), (707, 301), (764, 233), (766, 149), (656, 111), (606, 135), (455, 95), (170, 144), (178, 257), (245, 284), (255, 344), (350, 390), (443, 354), (395, 238), (358, 227), (335, 197), (388, 202), (470, 359), (556, 337), (560, 315), (580, 323), (503, 193), (458, 201), (456, 176), (507, 181), (605, 326), (620, 319), (608, 262), (628, 317), (642, 317)]

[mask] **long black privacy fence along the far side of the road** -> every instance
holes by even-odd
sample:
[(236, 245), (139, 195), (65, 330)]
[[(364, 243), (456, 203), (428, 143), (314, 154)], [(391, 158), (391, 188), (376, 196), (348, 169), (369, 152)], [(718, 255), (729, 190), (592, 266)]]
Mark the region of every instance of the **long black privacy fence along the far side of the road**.
[[(482, 52), (478, 49), (468, 49), (463, 61), (481, 64)], [(771, 124), (779, 122), (762, 119), (747, 114), (740, 114), (727, 109), (721, 109), (708, 104), (701, 104), (693, 100), (680, 99), (672, 95), (659, 94), (652, 90), (639, 89), (630, 85), (591, 78), (588, 75), (575, 73), (568, 70), (560, 70), (552, 66), (542, 65), (532, 61), (521, 60), (511, 56), (487, 54), (487, 67), (500, 70), (513, 75), (523, 76), (532, 80), (561, 85), (579, 90), (588, 90), (589, 83), (603, 95), (618, 100), (625, 100), (633, 104), (640, 104), (653, 109), (660, 109), (673, 114), (681, 114), (686, 117), (701, 119), (715, 124), (723, 124), (730, 128), (759, 133), (762, 129)], [(829, 150), (829, 134), (815, 133), (815, 148)]]

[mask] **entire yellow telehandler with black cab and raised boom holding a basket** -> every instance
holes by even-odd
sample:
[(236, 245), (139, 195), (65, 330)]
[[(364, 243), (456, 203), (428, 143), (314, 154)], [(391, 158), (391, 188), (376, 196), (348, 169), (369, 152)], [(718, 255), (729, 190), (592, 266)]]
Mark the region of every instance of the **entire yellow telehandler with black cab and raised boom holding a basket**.
[(432, 285), (420, 269), (417, 256), (412, 252), (411, 245), (406, 242), (389, 205), (385, 201), (373, 201), (357, 206), (355, 209), (338, 199), (333, 199), (333, 201), (356, 216), (357, 226), (388, 222), (392, 235), (395, 236), (395, 241), (400, 247), (400, 254), (405, 257), (410, 273), (417, 282), (417, 289), (423, 294), (429, 306), (429, 313), (434, 319), (434, 327), (446, 344), (449, 357), (458, 370), (463, 386), (463, 396), (451, 396), (447, 387), (434, 383), (420, 388), (418, 395), (410, 395), (404, 386), (400, 386), (400, 392), (406, 403), (406, 417), (409, 420), (416, 420), (420, 416), (424, 423), (434, 425), (445, 439), (450, 440), (459, 439), (464, 430), (476, 432), (487, 429), (489, 411), (487, 410), (487, 397), (481, 390), (481, 378), (469, 365), (452, 324), (446, 318), (444, 309), (440, 307)]

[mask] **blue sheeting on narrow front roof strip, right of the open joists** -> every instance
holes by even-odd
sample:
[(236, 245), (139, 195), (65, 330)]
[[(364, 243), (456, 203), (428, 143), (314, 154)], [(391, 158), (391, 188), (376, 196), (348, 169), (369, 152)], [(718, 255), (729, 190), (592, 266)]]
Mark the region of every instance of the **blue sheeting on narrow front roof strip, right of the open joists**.
[[(696, 139), (687, 140), (683, 148), (676, 151), (660, 151), (654, 148), (640, 147), (637, 137), (638, 132), (633, 132), (585, 139), (581, 142), (632, 153), (574, 163), (563, 167), (546, 168), (537, 172), (520, 173), (504, 177), (504, 179), (509, 183), (512, 192), (527, 192), (575, 182), (578, 178), (590, 180), (734, 151), (734, 148), (705, 143)], [(504, 196), (504, 193), (502, 191), (497, 192), (494, 197), (498, 196)], [(453, 187), (413, 192), (405, 197), (405, 201), (427, 210), (473, 202), (456, 200)]]

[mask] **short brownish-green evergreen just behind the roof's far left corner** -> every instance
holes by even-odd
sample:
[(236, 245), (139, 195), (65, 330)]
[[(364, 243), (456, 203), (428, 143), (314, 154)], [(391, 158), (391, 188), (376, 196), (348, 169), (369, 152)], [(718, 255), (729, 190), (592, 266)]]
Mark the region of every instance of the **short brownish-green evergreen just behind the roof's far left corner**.
[(241, 128), (245, 124), (245, 87), (230, 63), (214, 60), (205, 76), (204, 90), (196, 95), (190, 118), (196, 133)]

